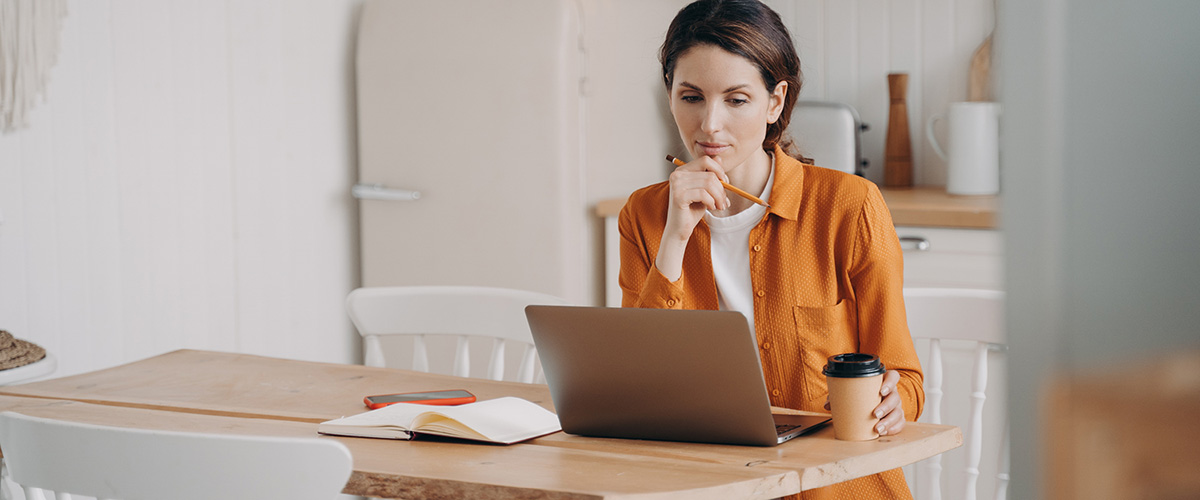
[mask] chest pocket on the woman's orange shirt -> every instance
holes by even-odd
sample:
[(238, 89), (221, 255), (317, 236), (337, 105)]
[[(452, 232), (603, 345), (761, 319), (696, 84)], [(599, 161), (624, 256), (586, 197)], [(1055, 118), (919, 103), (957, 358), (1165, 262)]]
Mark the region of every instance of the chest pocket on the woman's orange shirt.
[(835, 354), (858, 350), (858, 314), (854, 302), (842, 300), (834, 306), (796, 306), (792, 314), (796, 319), (796, 333), (800, 339), (804, 398), (821, 408), (828, 392), (822, 373), (826, 361)]

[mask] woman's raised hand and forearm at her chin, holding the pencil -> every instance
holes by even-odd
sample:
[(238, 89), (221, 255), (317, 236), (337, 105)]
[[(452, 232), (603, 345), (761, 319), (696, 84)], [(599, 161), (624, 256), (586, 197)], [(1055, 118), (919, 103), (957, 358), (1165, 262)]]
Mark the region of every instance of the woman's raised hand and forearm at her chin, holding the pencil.
[(704, 217), (704, 210), (725, 210), (730, 198), (721, 181), (728, 182), (721, 164), (708, 156), (677, 167), (671, 173), (671, 199), (667, 206), (667, 224), (654, 265), (670, 281), (683, 273), (683, 254), (691, 239), (691, 231)]

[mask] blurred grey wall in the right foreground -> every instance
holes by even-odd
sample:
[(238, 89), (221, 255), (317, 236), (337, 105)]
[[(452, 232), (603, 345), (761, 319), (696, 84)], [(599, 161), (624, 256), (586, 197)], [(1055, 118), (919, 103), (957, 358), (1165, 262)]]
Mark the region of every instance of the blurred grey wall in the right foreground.
[(1009, 498), (1045, 498), (1048, 381), (1200, 348), (1198, 19), (1192, 0), (1002, 4)]

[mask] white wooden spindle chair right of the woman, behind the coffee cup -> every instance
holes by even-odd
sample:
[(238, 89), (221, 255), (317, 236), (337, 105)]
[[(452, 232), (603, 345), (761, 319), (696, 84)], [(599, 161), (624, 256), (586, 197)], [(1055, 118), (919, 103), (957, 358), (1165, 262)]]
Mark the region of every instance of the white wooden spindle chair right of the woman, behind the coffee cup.
[[(989, 408), (985, 418), (984, 403), (988, 399), (989, 357), (1003, 360), (1004, 343), (1004, 293), (996, 290), (953, 288), (910, 288), (904, 290), (908, 330), (923, 356), (925, 373), (925, 409), (920, 422), (947, 423), (962, 428), (964, 448), (922, 460), (913, 469), (906, 468), (916, 477), (914, 495), (919, 499), (940, 500), (946, 489), (949, 499), (977, 499), (980, 463), (984, 457), (985, 436), (992, 444), (988, 450), (995, 457), (994, 499), (1003, 500), (1008, 488), (1008, 420), (1004, 408)], [(928, 343), (928, 351), (923, 348)], [(950, 360), (959, 355), (959, 360)], [(970, 365), (970, 366), (968, 366)], [(1002, 365), (1002, 363), (998, 363)], [(995, 369), (995, 368), (994, 368)], [(967, 373), (970, 372), (970, 373)], [(961, 403), (943, 404), (949, 387), (970, 380), (970, 387), (953, 391), (962, 394)], [(1003, 380), (1001, 380), (1003, 382)], [(1002, 397), (1003, 385), (992, 394)], [(943, 408), (948, 411), (943, 411)], [(949, 417), (947, 417), (949, 415)], [(990, 454), (995, 452), (995, 454)], [(961, 481), (943, 477), (942, 458), (962, 456)], [(955, 471), (958, 466), (954, 468)], [(953, 481), (950, 481), (953, 480)], [(954, 493), (950, 493), (953, 490)], [(986, 496), (984, 496), (986, 498)]]

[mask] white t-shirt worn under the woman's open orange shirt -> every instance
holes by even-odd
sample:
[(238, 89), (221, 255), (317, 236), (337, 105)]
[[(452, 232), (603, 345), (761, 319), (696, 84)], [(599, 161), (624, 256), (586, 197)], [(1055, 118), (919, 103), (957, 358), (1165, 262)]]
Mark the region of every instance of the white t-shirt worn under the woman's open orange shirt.
[[(758, 198), (770, 199), (770, 186), (775, 182), (775, 162), (770, 162), (767, 187)], [(716, 217), (704, 212), (713, 236), (713, 276), (716, 278), (716, 299), (721, 311), (737, 311), (746, 317), (754, 333), (754, 285), (750, 283), (750, 229), (758, 225), (767, 215), (767, 207), (754, 204), (728, 217)], [(757, 338), (757, 335), (755, 336)]]

